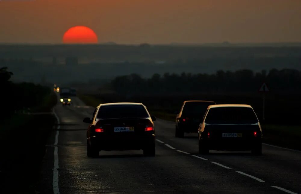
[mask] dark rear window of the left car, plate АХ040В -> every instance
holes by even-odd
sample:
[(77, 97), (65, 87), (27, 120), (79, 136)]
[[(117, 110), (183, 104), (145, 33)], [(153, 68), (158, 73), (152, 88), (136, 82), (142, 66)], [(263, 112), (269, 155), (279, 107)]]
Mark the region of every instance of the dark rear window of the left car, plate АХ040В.
[(112, 105), (101, 106), (97, 118), (129, 118), (148, 117), (148, 114), (141, 105)]

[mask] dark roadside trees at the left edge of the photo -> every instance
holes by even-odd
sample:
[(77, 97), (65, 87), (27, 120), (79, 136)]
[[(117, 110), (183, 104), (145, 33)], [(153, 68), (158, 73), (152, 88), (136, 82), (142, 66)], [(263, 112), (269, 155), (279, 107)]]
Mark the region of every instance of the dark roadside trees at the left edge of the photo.
[(12, 75), (7, 67), (0, 68), (1, 119), (9, 117), (16, 111), (41, 106), (45, 96), (51, 92), (48, 87), (33, 83), (13, 83), (10, 81)]

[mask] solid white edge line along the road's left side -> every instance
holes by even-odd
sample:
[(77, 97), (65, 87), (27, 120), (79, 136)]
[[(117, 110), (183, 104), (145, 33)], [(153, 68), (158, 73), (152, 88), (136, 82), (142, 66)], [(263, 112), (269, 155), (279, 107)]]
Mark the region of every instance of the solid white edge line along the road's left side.
[[(58, 144), (58, 136), (60, 134), (60, 131), (58, 131), (60, 129), (60, 119), (58, 118), (57, 114), (54, 112), (53, 109), (53, 113), (57, 119), (57, 131), (55, 134), (55, 140), (54, 140), (54, 145)], [(58, 165), (58, 147), (54, 146), (54, 164), (53, 164), (53, 181), (52, 181), (52, 188), (53, 188), (53, 193), (54, 194), (60, 194), (60, 189), (58, 187), (58, 171), (57, 169), (59, 168)]]

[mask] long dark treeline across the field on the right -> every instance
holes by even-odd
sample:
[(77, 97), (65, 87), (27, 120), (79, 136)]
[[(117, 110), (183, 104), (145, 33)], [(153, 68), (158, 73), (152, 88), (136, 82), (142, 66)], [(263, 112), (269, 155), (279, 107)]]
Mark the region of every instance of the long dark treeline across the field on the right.
[(243, 69), (235, 72), (219, 70), (214, 74), (154, 74), (142, 78), (138, 74), (118, 76), (111, 85), (117, 92), (138, 93), (200, 93), (200, 92), (257, 92), (265, 82), (275, 93), (300, 93), (301, 71), (272, 69), (253, 72)]

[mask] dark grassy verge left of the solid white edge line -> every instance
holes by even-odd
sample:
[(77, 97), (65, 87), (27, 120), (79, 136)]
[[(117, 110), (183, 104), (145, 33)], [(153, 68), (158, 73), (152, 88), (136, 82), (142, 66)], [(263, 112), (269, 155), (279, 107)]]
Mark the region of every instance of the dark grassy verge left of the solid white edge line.
[[(31, 111), (51, 112), (56, 96)], [(46, 143), (56, 119), (52, 114), (15, 113), (0, 124), (0, 192), (35, 193)], [(17, 186), (16, 186), (17, 184)]]

